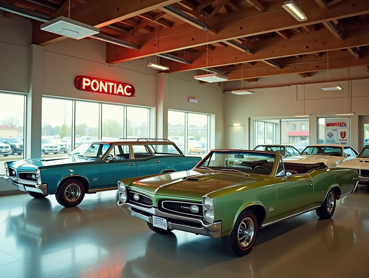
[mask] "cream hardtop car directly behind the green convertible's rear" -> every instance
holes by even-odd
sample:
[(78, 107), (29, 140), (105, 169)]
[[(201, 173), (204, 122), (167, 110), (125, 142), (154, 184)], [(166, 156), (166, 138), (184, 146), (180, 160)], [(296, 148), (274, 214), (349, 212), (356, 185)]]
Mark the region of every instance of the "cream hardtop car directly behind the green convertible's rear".
[(324, 163), (328, 167), (337, 167), (338, 164), (355, 159), (358, 152), (350, 147), (338, 144), (318, 144), (307, 146), (299, 155), (286, 157), (284, 162), (296, 163)]

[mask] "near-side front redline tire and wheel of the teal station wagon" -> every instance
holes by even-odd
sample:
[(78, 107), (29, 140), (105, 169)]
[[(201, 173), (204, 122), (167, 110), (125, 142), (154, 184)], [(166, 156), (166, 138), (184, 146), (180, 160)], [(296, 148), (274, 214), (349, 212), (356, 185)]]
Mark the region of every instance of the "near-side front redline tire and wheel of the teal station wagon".
[(79, 179), (67, 179), (58, 187), (55, 198), (64, 207), (78, 206), (85, 197), (85, 186)]

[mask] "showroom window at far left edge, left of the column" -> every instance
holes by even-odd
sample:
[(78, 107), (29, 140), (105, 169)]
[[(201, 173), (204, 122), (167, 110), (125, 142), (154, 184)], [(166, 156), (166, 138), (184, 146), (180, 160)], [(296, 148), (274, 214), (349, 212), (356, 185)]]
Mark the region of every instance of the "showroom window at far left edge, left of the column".
[(24, 96), (0, 93), (0, 174), (4, 162), (23, 158)]

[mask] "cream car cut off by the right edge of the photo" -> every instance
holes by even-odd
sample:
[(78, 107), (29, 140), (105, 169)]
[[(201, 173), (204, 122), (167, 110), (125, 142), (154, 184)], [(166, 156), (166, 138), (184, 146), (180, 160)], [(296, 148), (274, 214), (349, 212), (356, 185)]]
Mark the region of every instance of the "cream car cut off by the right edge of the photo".
[(369, 146), (364, 147), (355, 159), (342, 162), (337, 167), (358, 170), (359, 182), (369, 186)]

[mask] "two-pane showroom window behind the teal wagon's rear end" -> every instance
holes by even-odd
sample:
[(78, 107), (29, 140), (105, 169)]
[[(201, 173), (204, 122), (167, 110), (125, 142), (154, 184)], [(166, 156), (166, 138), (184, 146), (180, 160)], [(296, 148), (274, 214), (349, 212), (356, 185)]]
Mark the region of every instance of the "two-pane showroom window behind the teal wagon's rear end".
[(209, 127), (210, 115), (168, 111), (168, 139), (186, 155), (204, 157), (207, 154), (210, 150)]

